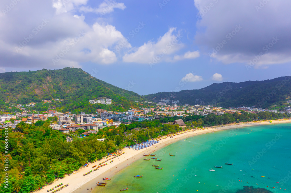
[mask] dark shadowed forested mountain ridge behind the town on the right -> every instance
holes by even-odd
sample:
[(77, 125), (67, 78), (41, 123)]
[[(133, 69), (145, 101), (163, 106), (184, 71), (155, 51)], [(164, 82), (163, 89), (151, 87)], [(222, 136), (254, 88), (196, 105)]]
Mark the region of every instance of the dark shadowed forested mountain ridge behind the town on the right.
[(241, 83), (214, 83), (199, 90), (159, 92), (144, 96), (158, 101), (161, 98), (179, 100), (181, 104), (205, 104), (221, 107), (255, 106), (266, 108), (286, 103), (290, 99), (291, 77)]

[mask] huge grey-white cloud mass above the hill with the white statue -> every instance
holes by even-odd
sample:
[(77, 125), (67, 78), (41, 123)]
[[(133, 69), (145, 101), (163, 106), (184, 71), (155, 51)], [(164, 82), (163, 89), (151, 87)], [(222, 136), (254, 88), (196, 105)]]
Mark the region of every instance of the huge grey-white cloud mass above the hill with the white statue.
[[(86, 0), (61, 1), (67, 2), (63, 11), (60, 1), (27, 0), (20, 6), (21, 2), (0, 16), (0, 25), (10, 26), (0, 28), (1, 67), (79, 68), (79, 63), (88, 61), (110, 64), (117, 61), (112, 51), (116, 45), (131, 47), (114, 26), (88, 25), (83, 14), (73, 14)], [(0, 1), (0, 6), (4, 5)]]

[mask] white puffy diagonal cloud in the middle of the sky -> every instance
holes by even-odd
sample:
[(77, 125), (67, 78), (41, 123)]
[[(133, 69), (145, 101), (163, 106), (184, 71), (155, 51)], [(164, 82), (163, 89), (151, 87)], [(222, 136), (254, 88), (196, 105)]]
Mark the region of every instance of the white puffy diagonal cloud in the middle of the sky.
[(165, 56), (175, 53), (184, 46), (180, 42), (180, 32), (173, 34), (175, 30), (176, 28), (170, 28), (162, 37), (159, 37), (157, 43), (148, 41), (139, 48), (134, 48), (132, 53), (123, 56), (123, 61), (149, 63), (153, 60), (159, 62), (167, 59)]

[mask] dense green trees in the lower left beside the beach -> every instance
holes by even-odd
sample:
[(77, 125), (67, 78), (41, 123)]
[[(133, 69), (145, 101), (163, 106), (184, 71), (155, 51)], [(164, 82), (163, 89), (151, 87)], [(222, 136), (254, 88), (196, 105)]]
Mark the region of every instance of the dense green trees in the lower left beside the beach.
[[(45, 183), (62, 178), (78, 170), (88, 160), (102, 158), (107, 153), (116, 151), (112, 141), (99, 142), (97, 135), (76, 138), (72, 143), (66, 142), (65, 135), (42, 126), (19, 123), (21, 132), (9, 132), (9, 180), (10, 189), (3, 187), (4, 157), (0, 161), (0, 192), (13, 192), (11, 188), (19, 185), (20, 192), (36, 190)], [(4, 152), (4, 134), (0, 131), (1, 152)]]

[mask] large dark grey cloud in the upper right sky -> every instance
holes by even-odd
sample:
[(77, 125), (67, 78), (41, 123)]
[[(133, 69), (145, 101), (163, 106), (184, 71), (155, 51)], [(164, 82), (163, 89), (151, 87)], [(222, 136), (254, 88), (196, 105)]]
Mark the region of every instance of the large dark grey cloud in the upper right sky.
[[(199, 11), (196, 43), (211, 58), (226, 64), (254, 61), (257, 66), (291, 61), (290, 1), (194, 0), (194, 3)], [(256, 61), (255, 56), (260, 59)]]

